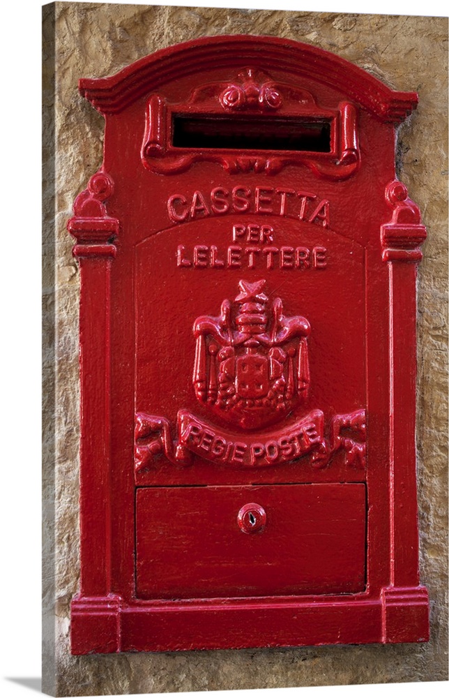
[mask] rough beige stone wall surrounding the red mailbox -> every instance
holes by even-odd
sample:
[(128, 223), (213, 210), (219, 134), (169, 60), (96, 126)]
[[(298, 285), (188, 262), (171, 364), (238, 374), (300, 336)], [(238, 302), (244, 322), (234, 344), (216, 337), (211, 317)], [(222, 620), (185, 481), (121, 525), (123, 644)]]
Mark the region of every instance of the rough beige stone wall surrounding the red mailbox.
[[(419, 269), (417, 430), (428, 644), (70, 655), (69, 604), (79, 575), (79, 274), (66, 221), (101, 163), (103, 134), (102, 117), (79, 96), (77, 80), (110, 75), (162, 47), (215, 34), (301, 40), (353, 61), (394, 89), (420, 94), (418, 110), (398, 133), (397, 173), (420, 205), (429, 236)], [(44, 10), (44, 36), (43, 690), (75, 696), (446, 680), (447, 20), (58, 2)]]

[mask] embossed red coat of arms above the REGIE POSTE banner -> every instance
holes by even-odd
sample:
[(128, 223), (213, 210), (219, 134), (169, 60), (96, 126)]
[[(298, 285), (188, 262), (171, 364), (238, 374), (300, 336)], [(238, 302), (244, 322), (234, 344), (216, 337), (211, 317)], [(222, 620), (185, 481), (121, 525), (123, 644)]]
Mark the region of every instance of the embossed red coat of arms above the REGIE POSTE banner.
[(266, 281), (240, 281), (218, 317), (197, 318), (193, 384), (197, 399), (222, 419), (259, 429), (287, 415), (307, 395), (309, 322), (284, 317)]

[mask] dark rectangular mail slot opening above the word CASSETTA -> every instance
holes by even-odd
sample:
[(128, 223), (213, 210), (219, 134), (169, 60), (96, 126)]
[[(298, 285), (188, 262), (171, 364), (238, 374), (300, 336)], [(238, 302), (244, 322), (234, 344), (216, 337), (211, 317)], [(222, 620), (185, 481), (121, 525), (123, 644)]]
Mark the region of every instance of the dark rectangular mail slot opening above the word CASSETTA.
[(174, 114), (175, 148), (330, 153), (330, 119), (213, 118)]

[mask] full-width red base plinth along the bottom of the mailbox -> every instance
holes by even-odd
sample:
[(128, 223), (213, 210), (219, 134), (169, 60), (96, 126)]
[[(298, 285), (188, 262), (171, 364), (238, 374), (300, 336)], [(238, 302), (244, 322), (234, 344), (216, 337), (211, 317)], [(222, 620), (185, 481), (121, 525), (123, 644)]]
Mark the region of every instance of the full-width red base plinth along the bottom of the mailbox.
[(323, 644), (424, 642), (425, 588), (386, 588), (379, 599), (211, 599), (125, 604), (119, 597), (72, 604), (74, 654)]

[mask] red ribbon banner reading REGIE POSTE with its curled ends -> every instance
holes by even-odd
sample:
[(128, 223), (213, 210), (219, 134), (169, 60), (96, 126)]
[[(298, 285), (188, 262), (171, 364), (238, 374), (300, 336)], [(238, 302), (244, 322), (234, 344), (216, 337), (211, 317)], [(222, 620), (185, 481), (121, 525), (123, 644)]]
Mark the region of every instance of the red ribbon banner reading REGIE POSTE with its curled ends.
[(154, 467), (159, 454), (181, 466), (190, 466), (194, 456), (217, 465), (235, 468), (263, 468), (294, 463), (310, 455), (312, 466), (324, 468), (338, 450), (345, 452), (345, 464), (366, 466), (365, 410), (335, 415), (324, 435), (324, 414), (312, 410), (301, 419), (276, 431), (248, 435), (231, 433), (205, 422), (188, 410), (179, 410), (178, 440), (172, 438), (169, 421), (137, 413), (135, 423), (135, 470)]

